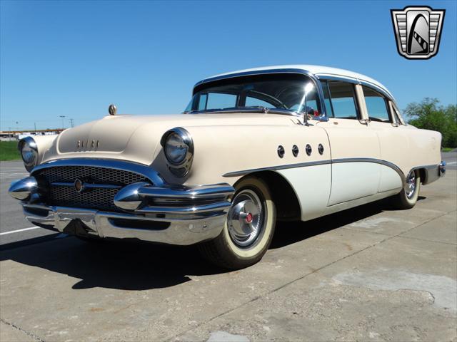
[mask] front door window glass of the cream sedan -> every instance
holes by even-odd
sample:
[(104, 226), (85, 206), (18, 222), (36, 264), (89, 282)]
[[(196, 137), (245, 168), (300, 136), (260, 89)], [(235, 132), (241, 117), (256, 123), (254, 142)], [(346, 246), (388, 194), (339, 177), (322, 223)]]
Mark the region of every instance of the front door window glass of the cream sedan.
[(352, 83), (328, 81), (333, 118), (357, 119), (356, 93)]

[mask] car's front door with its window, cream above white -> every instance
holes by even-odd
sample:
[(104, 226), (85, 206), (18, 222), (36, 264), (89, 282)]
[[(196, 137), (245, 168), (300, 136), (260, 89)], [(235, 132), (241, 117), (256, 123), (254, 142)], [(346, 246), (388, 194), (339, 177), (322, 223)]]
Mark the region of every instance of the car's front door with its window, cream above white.
[(321, 81), (329, 120), (318, 123), (331, 147), (331, 193), (328, 206), (375, 195), (381, 175), (378, 136), (361, 123), (354, 83)]

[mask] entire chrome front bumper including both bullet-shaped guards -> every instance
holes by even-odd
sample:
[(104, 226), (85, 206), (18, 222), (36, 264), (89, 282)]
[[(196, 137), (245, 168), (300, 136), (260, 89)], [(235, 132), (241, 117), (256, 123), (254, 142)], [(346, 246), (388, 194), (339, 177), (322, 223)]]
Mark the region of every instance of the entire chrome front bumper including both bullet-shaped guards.
[[(76, 162), (54, 162), (49, 167), (74, 165)], [(79, 162), (89, 164), (88, 161)], [(94, 166), (99, 163), (90, 161)], [(123, 162), (119, 167), (131, 170), (135, 165), (129, 164)], [(151, 176), (154, 170), (148, 172)], [(12, 183), (9, 193), (21, 201), (29, 222), (68, 234), (179, 245), (195, 244), (221, 234), (231, 207), (233, 187), (229, 184), (174, 186), (167, 185), (159, 177), (155, 173), (154, 177), (148, 177), (153, 179), (151, 183), (136, 182), (122, 187), (114, 197), (117, 210), (112, 212), (47, 204), (48, 185), (35, 170), (30, 177)], [(62, 183), (62, 186), (69, 185)], [(106, 185), (88, 184), (84, 191), (91, 191), (91, 187)]]

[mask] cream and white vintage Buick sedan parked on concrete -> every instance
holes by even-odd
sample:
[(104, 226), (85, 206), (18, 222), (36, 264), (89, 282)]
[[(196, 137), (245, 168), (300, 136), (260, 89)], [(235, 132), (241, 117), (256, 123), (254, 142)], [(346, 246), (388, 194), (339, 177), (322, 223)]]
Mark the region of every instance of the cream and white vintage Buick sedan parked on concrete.
[(445, 172), (440, 133), (407, 125), (381, 83), (336, 68), (226, 73), (196, 83), (181, 115), (109, 114), (19, 142), (30, 176), (9, 192), (26, 219), (86, 240), (198, 243), (237, 269), (261, 259), (277, 220), (384, 197), (408, 209)]

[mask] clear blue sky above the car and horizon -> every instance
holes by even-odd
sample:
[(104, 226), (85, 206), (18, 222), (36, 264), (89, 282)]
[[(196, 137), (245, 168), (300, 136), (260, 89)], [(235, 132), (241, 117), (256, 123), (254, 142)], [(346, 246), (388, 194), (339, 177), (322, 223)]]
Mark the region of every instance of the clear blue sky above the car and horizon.
[[(398, 55), (390, 9), (446, 9), (439, 53)], [(0, 130), (180, 113), (201, 78), (319, 64), (365, 73), (404, 108), (457, 103), (457, 1), (0, 1)], [(16, 124), (16, 122), (18, 122)]]

